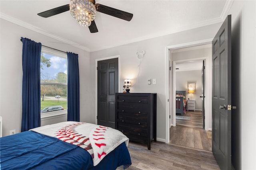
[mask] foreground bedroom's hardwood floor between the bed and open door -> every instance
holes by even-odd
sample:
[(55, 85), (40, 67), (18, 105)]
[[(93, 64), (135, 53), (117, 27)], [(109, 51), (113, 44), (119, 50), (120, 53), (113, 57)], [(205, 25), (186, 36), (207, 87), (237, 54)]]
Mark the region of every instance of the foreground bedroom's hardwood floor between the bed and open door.
[[(162, 142), (147, 145), (129, 142), (132, 165), (127, 170), (219, 170), (212, 152)], [(118, 167), (122, 170), (122, 166)]]

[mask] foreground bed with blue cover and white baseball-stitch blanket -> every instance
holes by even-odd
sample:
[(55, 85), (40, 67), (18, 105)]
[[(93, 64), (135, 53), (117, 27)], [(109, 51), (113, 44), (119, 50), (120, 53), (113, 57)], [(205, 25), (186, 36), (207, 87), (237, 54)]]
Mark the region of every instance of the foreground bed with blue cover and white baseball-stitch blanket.
[(84, 122), (46, 125), (0, 138), (1, 170), (116, 170), (130, 166), (129, 139)]

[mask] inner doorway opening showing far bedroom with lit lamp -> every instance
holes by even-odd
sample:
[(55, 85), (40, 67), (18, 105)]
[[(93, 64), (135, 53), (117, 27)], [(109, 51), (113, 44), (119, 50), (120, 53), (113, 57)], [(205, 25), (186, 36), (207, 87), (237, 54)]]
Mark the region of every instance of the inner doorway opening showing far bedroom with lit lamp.
[[(175, 57), (179, 52), (173, 51)], [(182, 54), (181, 54), (182, 55)], [(176, 125), (204, 128), (202, 68), (204, 60), (176, 62)], [(182, 94), (180, 93), (182, 92)], [(183, 99), (180, 100), (180, 99)], [(180, 109), (183, 106), (182, 110)]]

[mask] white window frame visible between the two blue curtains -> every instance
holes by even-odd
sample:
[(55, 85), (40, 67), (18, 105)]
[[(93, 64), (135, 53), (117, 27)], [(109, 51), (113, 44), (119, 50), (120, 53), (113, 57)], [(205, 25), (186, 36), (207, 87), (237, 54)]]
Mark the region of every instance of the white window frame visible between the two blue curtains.
[[(61, 57), (64, 59), (68, 59), (67, 53), (63, 53), (54, 49), (50, 49), (47, 47), (42, 46), (41, 48), (41, 53), (46, 53), (46, 54), (50, 54), (56, 57)], [(68, 64), (68, 62), (67, 62)], [(53, 85), (66, 85), (67, 86), (67, 90), (68, 90), (68, 83), (49, 83), (49, 82), (42, 82), (40, 81), (40, 85), (41, 84), (53, 84)], [(67, 98), (67, 103), (68, 103), (68, 98)], [(42, 120), (46, 120), (49, 118), (55, 118), (55, 117), (62, 117), (62, 116), (66, 116), (68, 115), (68, 109), (65, 110), (59, 110), (59, 111), (51, 111), (51, 112), (46, 112), (46, 113), (41, 113), (41, 121)]]

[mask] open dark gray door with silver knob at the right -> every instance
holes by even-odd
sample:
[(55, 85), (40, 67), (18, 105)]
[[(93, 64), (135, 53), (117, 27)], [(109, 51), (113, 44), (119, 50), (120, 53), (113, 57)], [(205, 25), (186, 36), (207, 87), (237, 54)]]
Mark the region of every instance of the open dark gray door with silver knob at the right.
[(231, 170), (231, 15), (212, 40), (212, 152)]

